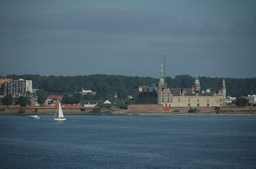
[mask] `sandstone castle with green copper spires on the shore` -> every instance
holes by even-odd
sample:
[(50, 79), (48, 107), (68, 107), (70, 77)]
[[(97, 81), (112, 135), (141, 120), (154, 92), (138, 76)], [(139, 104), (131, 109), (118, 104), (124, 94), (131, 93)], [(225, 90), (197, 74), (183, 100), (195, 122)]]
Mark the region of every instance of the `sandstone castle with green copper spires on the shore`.
[(218, 93), (201, 90), (198, 73), (192, 88), (169, 88), (165, 83), (163, 64), (160, 68), (158, 87), (134, 86), (135, 104), (162, 104), (163, 107), (223, 107), (226, 106), (226, 87), (223, 79)]

